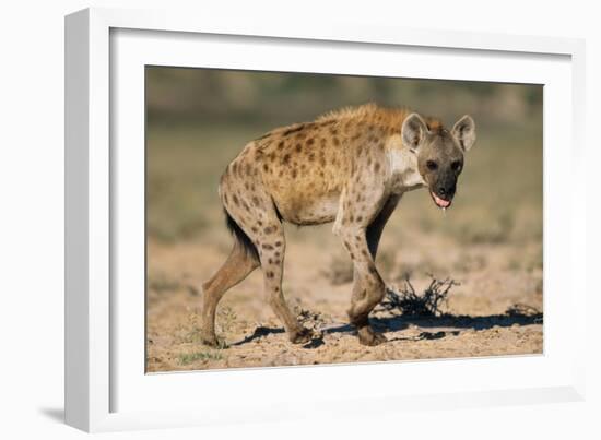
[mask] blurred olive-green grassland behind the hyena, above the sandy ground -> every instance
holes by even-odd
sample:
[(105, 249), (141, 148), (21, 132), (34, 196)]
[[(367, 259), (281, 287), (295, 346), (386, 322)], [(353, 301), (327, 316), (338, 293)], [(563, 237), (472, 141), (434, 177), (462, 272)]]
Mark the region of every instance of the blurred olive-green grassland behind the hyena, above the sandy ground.
[[(485, 217), (474, 230), (462, 222), (475, 218), (460, 222), (455, 217), (462, 213), (453, 213), (447, 222), (451, 228), (494, 236), (499, 222), (512, 226), (516, 216), (540, 214), (542, 86), (149, 67), (150, 238), (198, 238), (215, 214), (221, 215), (215, 205), (219, 176), (250, 140), (279, 126), (368, 102), (409, 107), (439, 117), (448, 127), (464, 114), (475, 119), (478, 142), (453, 209), (463, 212), (471, 205), (475, 215)], [(406, 199), (414, 198), (428, 202), (417, 194)], [(494, 218), (486, 217), (491, 210)], [(540, 217), (528, 223), (528, 228), (542, 230)]]

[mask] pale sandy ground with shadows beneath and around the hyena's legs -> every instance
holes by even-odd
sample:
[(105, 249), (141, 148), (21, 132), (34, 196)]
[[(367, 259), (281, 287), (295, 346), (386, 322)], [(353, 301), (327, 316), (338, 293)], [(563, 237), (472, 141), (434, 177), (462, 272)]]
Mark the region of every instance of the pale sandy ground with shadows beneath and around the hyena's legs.
[(415, 318), (376, 308), (372, 323), (388, 342), (366, 347), (347, 324), (350, 266), (337, 241), (303, 237), (287, 247), (283, 287), (299, 319), (322, 336), (305, 346), (288, 342), (263, 298), (257, 270), (220, 304), (217, 336), (226, 346), (219, 349), (199, 342), (200, 285), (221, 265), (227, 245), (151, 240), (148, 371), (542, 353), (542, 270), (527, 264), (530, 255), (540, 253), (534, 245), (516, 249), (507, 243), (474, 243), (453, 251), (449, 240), (447, 251), (436, 252), (428, 251), (434, 249), (428, 240), (436, 240), (439, 249), (440, 237), (417, 234), (411, 241), (420, 245), (420, 251), (409, 252), (412, 242), (391, 249), (385, 237), (378, 265), (392, 289), (403, 288), (405, 273), (419, 293), (429, 284), (429, 274), (452, 276), (460, 284), (449, 290), (440, 317)]

